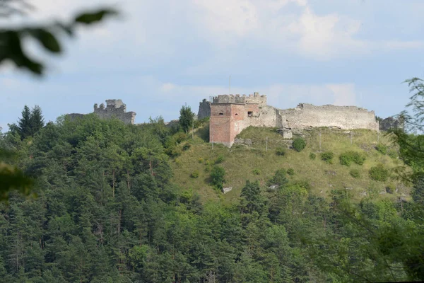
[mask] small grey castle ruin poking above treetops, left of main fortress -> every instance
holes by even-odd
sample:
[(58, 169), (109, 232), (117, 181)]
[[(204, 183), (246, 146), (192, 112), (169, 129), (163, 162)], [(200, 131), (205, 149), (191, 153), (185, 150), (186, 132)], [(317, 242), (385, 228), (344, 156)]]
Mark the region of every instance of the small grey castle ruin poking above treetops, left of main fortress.
[[(126, 112), (126, 105), (120, 99), (107, 99), (106, 100), (106, 108), (102, 103), (100, 106), (96, 103), (94, 105), (94, 113), (98, 115), (100, 119), (110, 119), (112, 117), (116, 117), (121, 120), (125, 124), (132, 124), (136, 120), (136, 112)], [(83, 117), (84, 114), (72, 113), (66, 116), (70, 117), (71, 120), (76, 120), (79, 117)]]

